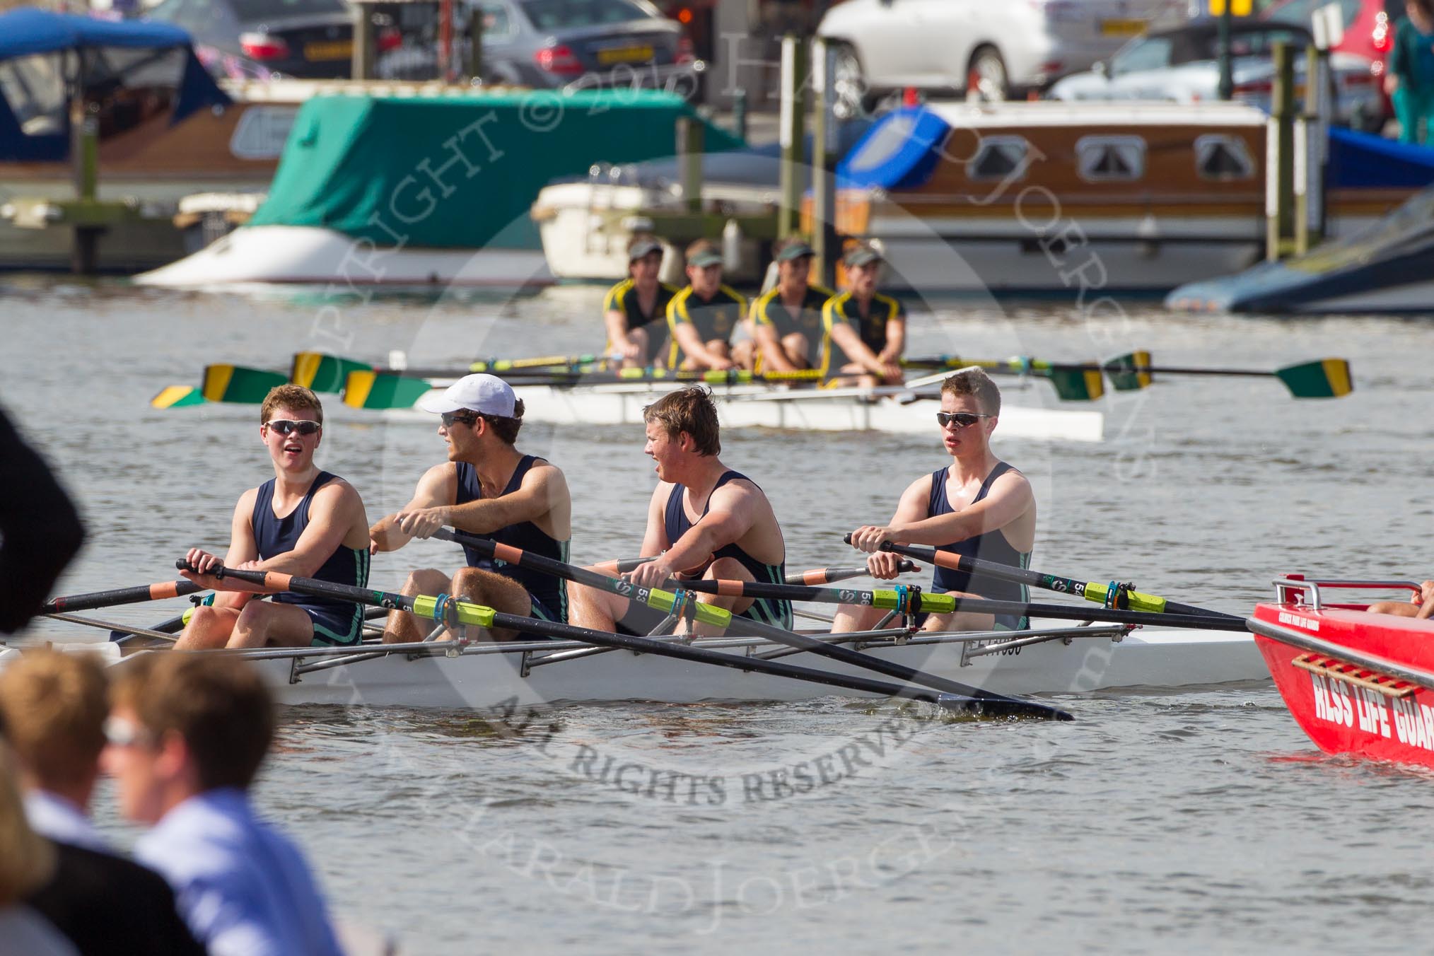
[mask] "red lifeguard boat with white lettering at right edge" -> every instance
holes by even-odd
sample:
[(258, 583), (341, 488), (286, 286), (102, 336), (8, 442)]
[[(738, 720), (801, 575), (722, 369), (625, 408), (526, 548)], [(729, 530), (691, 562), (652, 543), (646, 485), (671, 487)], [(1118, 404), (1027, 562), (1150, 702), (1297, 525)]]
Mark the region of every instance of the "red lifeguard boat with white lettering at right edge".
[(1275, 580), (1250, 631), (1285, 705), (1328, 754), (1434, 767), (1434, 621), (1325, 603), (1331, 589), (1412, 591), (1408, 580)]

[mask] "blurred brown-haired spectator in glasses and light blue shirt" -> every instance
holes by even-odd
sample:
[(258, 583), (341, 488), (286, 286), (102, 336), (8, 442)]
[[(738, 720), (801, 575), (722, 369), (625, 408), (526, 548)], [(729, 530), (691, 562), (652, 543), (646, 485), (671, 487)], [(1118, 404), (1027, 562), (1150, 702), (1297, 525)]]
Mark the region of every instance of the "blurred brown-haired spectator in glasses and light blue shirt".
[(337, 956), (303, 853), (250, 806), (274, 738), (257, 669), (214, 655), (136, 658), (115, 681), (105, 735), (120, 813), (151, 827), (135, 856), (169, 881), (209, 953)]

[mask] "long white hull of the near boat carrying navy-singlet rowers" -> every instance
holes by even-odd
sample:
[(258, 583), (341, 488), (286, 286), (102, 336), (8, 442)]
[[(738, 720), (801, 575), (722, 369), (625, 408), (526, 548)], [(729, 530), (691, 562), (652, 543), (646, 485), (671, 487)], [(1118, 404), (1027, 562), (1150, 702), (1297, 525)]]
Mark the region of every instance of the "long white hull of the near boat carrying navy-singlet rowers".
[[(868, 648), (872, 656), (998, 694), (1083, 694), (1108, 688), (1176, 688), (1268, 679), (1269, 671), (1248, 634), (1213, 631), (1137, 631), (1120, 642), (1078, 638), (1051, 641), (1015, 652), (975, 658), (961, 666), (961, 645), (932, 644)], [(737, 651), (740, 654), (740, 651)], [(545, 664), (522, 675), (516, 654), (465, 654), (409, 659), (389, 655), (303, 674), (323, 661), (274, 659), (264, 668), (285, 704), (363, 704), (511, 711), (579, 701), (807, 701), (833, 694), (870, 697), (809, 681), (749, 674), (650, 654), (614, 651)], [(783, 664), (860, 674), (812, 654)]]

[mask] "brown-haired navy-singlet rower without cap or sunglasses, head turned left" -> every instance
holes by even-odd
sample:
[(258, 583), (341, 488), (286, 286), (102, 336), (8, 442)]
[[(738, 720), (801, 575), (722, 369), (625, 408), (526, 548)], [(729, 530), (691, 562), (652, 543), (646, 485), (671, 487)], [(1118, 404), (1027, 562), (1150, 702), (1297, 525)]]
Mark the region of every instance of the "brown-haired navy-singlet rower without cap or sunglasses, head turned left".
[[(717, 407), (706, 388), (678, 388), (644, 408), (647, 447), (658, 477), (648, 500), (641, 556), (652, 558), (628, 580), (660, 586), (685, 575), (704, 579), (782, 582), (786, 543), (771, 503), (750, 479), (733, 472), (717, 454), (721, 441)], [(602, 570), (602, 568), (594, 568)], [(607, 591), (572, 585), (572, 622), (598, 631), (647, 634), (661, 615), (632, 606)], [(786, 601), (753, 601), (733, 595), (697, 595), (697, 601), (782, 628), (792, 626)], [(680, 626), (687, 628), (688, 622)], [(695, 634), (720, 634), (693, 625)], [(733, 628), (741, 634), (740, 625)]]

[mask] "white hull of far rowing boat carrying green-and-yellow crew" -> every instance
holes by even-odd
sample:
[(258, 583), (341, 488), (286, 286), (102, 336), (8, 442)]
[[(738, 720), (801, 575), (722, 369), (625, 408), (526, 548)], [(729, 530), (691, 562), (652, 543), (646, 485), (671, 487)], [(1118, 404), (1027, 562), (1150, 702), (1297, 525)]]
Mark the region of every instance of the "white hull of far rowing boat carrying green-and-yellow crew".
[[(443, 388), (449, 381), (435, 381)], [(677, 386), (645, 384), (518, 386), (525, 421), (552, 424), (642, 423), (642, 408)], [(882, 431), (932, 434), (936, 404), (901, 404), (873, 398), (865, 388), (786, 390), (766, 386), (716, 387), (717, 416), (724, 429), (796, 429), (804, 431)], [(430, 416), (432, 417), (432, 416)], [(999, 434), (1035, 441), (1101, 441), (1104, 414), (1094, 410), (1032, 408), (1002, 404)]]

